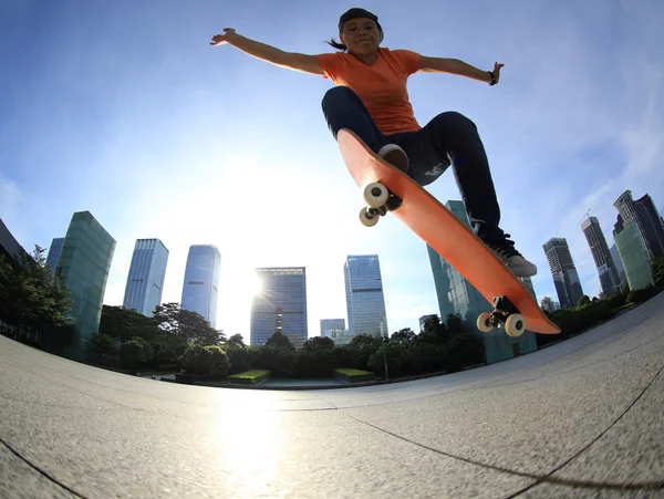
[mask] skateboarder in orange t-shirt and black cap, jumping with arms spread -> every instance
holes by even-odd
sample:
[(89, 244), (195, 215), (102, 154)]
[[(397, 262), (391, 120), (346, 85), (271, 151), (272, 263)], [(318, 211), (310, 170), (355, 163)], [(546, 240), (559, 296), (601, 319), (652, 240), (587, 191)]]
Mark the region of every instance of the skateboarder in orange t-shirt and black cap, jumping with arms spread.
[(477, 236), (517, 277), (537, 273), (537, 267), (515, 249), (500, 227), (500, 208), (484, 145), (476, 125), (456, 112), (446, 112), (422, 127), (415, 119), (406, 90), (416, 72), (452, 73), (495, 85), (502, 64), (481, 71), (456, 59), (421, 55), (381, 46), (378, 18), (350, 9), (339, 20), (336, 53), (305, 55), (283, 52), (245, 38), (231, 28), (212, 37), (210, 45), (231, 44), (262, 61), (331, 80), (338, 86), (323, 97), (323, 113), (332, 135), (353, 131), (378, 156), (401, 168), (422, 186), (436, 180), (450, 165)]

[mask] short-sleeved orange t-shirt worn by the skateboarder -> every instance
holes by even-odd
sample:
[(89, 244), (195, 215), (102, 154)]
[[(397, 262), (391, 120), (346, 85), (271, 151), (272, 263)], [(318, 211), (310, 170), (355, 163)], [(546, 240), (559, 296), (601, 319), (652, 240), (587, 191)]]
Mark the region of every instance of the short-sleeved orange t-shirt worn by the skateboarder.
[(409, 50), (378, 49), (370, 66), (346, 52), (319, 54), (323, 77), (354, 91), (383, 135), (421, 128), (408, 101), (406, 81), (419, 69), (419, 54)]

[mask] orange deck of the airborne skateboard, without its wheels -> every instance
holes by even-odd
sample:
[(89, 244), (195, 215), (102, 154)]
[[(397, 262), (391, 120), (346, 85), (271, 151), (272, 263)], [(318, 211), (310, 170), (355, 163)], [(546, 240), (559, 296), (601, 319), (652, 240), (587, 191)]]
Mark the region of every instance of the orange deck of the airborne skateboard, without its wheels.
[(560, 333), (558, 325), (544, 315), (521, 281), (452, 211), (411, 177), (374, 154), (353, 132), (341, 129), (336, 139), (357, 186), (364, 189), (372, 183), (380, 183), (401, 199), (401, 206), (387, 212), (428, 243), (489, 303), (496, 306), (495, 299), (505, 297), (523, 316), (527, 331)]

